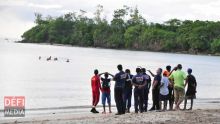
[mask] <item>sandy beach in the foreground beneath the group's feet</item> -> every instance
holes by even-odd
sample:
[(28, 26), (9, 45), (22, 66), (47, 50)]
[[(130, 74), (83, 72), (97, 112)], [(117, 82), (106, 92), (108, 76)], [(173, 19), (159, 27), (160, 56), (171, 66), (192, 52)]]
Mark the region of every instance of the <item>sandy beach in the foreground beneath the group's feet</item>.
[[(101, 108), (100, 108), (101, 110)], [(56, 113), (24, 118), (5, 118), (1, 124), (8, 123), (34, 123), (34, 124), (220, 124), (220, 108), (217, 109), (194, 109), (186, 111), (92, 114), (86, 113)]]

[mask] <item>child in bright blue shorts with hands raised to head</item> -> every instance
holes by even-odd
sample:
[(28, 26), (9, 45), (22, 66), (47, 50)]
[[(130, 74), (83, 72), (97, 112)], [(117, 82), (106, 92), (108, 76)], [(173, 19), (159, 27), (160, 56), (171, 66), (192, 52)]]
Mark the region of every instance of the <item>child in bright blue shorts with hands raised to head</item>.
[(103, 105), (103, 112), (102, 114), (106, 114), (105, 111), (105, 101), (107, 99), (108, 102), (108, 106), (109, 106), (109, 113), (111, 112), (111, 91), (110, 91), (110, 81), (111, 78), (108, 78), (108, 76), (111, 75), (112, 77), (114, 77), (112, 74), (109, 74), (108, 72), (104, 73), (104, 77), (101, 77), (101, 90), (102, 90), (102, 105)]

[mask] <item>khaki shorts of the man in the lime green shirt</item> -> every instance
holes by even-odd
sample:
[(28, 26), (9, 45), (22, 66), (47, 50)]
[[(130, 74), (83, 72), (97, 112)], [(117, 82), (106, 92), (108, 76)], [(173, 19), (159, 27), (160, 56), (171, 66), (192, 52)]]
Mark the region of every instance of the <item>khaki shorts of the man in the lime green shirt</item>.
[(182, 102), (184, 100), (185, 90), (183, 88), (174, 88), (174, 99), (175, 102)]

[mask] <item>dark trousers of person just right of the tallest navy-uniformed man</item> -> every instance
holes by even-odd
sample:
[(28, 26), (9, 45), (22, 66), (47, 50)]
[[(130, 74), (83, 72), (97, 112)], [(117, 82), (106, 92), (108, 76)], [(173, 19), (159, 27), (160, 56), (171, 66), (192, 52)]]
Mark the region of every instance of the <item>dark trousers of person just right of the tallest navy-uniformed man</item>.
[(132, 89), (125, 89), (124, 90), (124, 106), (127, 110), (131, 107), (131, 96), (132, 96)]

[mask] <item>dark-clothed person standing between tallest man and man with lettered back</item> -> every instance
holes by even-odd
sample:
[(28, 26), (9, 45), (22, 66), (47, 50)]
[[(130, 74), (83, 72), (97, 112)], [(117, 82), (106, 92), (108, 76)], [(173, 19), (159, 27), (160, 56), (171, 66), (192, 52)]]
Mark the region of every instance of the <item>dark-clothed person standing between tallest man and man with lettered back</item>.
[(129, 69), (125, 70), (125, 73), (127, 74), (126, 81), (125, 81), (125, 89), (124, 89), (124, 102), (125, 102), (125, 108), (126, 112), (130, 113), (131, 108), (131, 96), (132, 96), (132, 77), (131, 72)]

